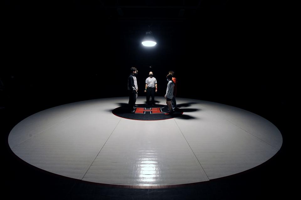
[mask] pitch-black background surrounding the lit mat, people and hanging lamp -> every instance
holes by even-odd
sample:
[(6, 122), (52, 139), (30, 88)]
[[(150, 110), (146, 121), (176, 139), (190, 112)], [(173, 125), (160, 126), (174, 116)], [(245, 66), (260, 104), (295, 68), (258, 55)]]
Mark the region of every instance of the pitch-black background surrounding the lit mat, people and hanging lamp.
[[(187, 13), (180, 20), (156, 18), (149, 12), (142, 16), (138, 11), (124, 11), (131, 18), (121, 18), (97, 1), (6, 1), (6, 5), (0, 111), (6, 161), (3, 182), (12, 199), (253, 199), (290, 195), (286, 163), (293, 140), (288, 109), (292, 72), (287, 40), (283, 40), (286, 24), (283, 13), (275, 9), (280, 8), (278, 3), (203, 1), (196, 13)], [(147, 49), (140, 42), (150, 24), (157, 45)], [(210, 183), (157, 190), (77, 182), (28, 166), (12, 153), (7, 137), (19, 121), (57, 105), (127, 96), (132, 66), (139, 71), (140, 98), (145, 98), (144, 81), (149, 71), (158, 81), (157, 96), (163, 97), (166, 74), (174, 70), (179, 81), (177, 97), (233, 105), (263, 116), (281, 131), (281, 150), (247, 172)]]

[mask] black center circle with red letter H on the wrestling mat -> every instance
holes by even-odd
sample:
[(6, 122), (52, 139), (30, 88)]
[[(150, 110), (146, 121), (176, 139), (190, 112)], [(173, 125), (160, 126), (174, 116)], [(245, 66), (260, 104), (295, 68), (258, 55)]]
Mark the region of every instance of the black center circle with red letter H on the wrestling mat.
[(139, 104), (138, 106), (134, 113), (131, 113), (126, 105), (115, 108), (112, 113), (122, 118), (144, 121), (167, 120), (183, 114), (181, 109), (176, 109), (172, 115), (165, 115), (168, 113), (168, 107), (160, 104), (154, 106)]

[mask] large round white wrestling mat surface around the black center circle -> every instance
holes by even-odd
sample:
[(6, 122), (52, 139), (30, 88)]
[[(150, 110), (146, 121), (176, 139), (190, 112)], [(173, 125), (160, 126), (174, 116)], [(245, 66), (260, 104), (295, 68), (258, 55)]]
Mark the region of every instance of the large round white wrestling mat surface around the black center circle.
[[(156, 100), (166, 104), (164, 98)], [(136, 104), (144, 102), (138, 97)], [(13, 128), (9, 146), (48, 172), (147, 188), (243, 172), (266, 162), (282, 145), (271, 122), (229, 105), (177, 98), (183, 115), (172, 119), (141, 121), (112, 114), (127, 103), (128, 97), (106, 98), (40, 111)]]

